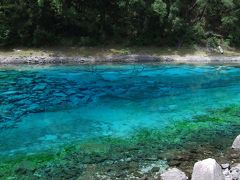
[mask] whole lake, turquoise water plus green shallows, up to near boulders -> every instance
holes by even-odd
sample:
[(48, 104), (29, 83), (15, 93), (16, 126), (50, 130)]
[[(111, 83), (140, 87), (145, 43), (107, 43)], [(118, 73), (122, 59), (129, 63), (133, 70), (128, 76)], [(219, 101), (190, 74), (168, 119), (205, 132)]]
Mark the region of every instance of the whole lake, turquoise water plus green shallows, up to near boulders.
[(31, 179), (128, 179), (152, 167), (188, 170), (221, 157), (239, 134), (239, 90), (237, 66), (1, 67), (0, 152), (11, 162), (0, 172), (18, 177), (14, 164)]

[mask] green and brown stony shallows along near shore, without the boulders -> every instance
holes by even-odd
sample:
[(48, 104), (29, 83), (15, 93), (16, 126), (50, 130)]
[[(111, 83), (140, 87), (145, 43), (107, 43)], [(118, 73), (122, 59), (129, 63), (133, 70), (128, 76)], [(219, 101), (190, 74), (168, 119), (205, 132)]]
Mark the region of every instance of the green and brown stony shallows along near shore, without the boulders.
[(157, 178), (168, 167), (177, 167), (190, 177), (194, 163), (208, 157), (221, 164), (240, 162), (239, 152), (230, 148), (239, 134), (239, 114), (240, 107), (231, 105), (163, 130), (139, 129), (127, 139), (107, 136), (49, 154), (12, 157), (1, 162), (0, 177)]

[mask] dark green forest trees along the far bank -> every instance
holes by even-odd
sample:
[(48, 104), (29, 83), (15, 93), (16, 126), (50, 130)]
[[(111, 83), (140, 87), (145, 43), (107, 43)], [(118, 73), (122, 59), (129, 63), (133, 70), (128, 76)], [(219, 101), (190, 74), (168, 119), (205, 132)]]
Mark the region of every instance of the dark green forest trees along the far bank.
[(238, 0), (1, 0), (0, 45), (239, 47), (239, 9)]

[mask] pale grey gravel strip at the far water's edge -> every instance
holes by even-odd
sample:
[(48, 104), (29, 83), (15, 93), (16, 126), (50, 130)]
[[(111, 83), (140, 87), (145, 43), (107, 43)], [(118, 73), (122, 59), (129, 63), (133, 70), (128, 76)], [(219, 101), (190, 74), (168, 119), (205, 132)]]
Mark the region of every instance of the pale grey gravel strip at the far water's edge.
[(105, 55), (105, 56), (0, 56), (0, 64), (94, 64), (94, 63), (240, 63), (240, 56), (207, 55)]

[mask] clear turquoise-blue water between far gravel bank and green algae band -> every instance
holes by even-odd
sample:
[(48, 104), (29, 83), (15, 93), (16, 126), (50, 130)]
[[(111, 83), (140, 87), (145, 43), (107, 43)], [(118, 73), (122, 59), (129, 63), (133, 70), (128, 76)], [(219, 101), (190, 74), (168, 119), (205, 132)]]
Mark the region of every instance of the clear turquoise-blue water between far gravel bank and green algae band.
[(34, 153), (161, 129), (240, 104), (240, 68), (192, 65), (0, 68), (0, 153)]

